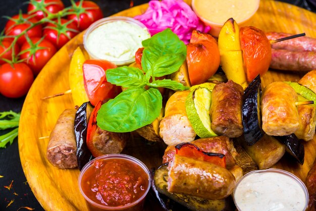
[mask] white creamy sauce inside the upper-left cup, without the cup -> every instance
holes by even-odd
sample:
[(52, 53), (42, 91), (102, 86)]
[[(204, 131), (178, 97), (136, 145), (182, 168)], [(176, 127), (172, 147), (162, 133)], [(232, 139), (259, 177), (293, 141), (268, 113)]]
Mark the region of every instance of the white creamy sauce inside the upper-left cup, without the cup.
[(87, 37), (87, 48), (99, 59), (111, 62), (135, 58), (141, 42), (150, 37), (146, 28), (125, 21), (114, 21), (94, 29)]

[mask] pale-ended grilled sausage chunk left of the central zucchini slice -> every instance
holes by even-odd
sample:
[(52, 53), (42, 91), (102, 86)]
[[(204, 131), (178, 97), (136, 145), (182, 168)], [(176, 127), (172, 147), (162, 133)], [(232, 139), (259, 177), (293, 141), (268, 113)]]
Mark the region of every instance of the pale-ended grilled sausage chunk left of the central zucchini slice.
[(165, 117), (160, 122), (160, 136), (167, 145), (193, 141), (196, 133), (187, 117), (185, 100), (190, 91), (177, 91), (168, 99)]

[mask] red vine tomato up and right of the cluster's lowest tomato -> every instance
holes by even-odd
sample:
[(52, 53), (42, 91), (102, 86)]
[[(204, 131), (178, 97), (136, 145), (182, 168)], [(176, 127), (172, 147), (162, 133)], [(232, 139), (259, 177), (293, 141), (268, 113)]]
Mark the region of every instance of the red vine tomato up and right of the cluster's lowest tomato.
[(21, 47), (23, 54), (20, 55), (20, 58), (25, 60), (36, 76), (48, 60), (54, 56), (57, 49), (55, 45), (39, 37), (32, 37), (31, 42), (32, 45), (27, 41), (23, 43)]

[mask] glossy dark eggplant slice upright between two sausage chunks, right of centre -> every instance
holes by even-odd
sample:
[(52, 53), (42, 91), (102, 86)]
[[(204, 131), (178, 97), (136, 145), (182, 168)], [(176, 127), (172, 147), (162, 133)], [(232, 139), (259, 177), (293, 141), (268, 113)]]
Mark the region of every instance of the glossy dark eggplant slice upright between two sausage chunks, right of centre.
[(242, 102), (244, 139), (249, 146), (264, 136), (264, 131), (261, 129), (260, 95), (261, 79), (258, 75), (245, 89)]

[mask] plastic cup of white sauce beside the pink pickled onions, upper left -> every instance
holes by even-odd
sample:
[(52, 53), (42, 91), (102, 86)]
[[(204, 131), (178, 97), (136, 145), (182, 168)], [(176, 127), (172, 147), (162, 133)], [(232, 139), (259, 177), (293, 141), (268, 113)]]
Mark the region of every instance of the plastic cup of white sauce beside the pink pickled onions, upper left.
[(135, 61), (135, 52), (148, 38), (150, 34), (144, 24), (133, 18), (115, 16), (91, 24), (83, 35), (83, 45), (90, 59), (123, 66)]

